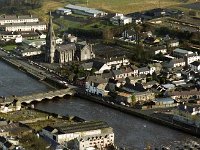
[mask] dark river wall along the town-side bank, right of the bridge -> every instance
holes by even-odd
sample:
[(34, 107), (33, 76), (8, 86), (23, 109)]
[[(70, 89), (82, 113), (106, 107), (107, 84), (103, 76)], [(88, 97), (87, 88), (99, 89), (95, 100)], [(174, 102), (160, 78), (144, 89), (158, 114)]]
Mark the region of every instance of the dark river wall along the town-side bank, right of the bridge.
[(145, 119), (145, 120), (148, 120), (148, 121), (151, 121), (151, 122), (163, 125), (163, 126), (167, 126), (172, 129), (176, 129), (176, 130), (183, 131), (185, 133), (200, 137), (200, 129), (199, 128), (185, 125), (180, 122), (174, 122), (173, 120), (168, 121), (168, 120), (164, 120), (164, 119), (161, 119), (158, 117), (147, 115), (147, 114), (143, 113), (141, 110), (132, 109), (132, 108), (125, 107), (122, 105), (118, 105), (118, 104), (111, 104), (111, 103), (105, 102), (102, 99), (95, 97), (95, 96), (85, 95), (85, 94), (81, 94), (81, 93), (78, 93), (75, 96), (98, 103), (98, 104), (101, 104), (101, 105), (104, 105), (106, 107), (121, 111), (121, 112), (129, 114), (129, 115), (137, 116), (139, 118), (142, 118), (142, 119)]

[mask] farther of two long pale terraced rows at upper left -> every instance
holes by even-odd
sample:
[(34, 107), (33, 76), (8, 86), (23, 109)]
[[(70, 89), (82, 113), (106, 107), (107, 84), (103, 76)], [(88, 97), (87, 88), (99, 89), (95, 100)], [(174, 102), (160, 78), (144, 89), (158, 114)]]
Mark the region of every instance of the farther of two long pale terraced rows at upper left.
[(11, 24), (11, 23), (26, 23), (26, 22), (39, 22), (39, 19), (33, 15), (2, 15), (0, 16), (0, 25)]

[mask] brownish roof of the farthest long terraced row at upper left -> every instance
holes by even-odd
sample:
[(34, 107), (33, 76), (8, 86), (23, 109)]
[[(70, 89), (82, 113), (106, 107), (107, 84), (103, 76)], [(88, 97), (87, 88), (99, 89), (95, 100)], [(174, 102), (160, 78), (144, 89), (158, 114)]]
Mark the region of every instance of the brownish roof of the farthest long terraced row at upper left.
[(34, 15), (22, 15), (22, 16), (2, 15), (2, 16), (0, 16), (0, 20), (18, 20), (18, 19), (38, 19), (38, 17), (36, 17)]

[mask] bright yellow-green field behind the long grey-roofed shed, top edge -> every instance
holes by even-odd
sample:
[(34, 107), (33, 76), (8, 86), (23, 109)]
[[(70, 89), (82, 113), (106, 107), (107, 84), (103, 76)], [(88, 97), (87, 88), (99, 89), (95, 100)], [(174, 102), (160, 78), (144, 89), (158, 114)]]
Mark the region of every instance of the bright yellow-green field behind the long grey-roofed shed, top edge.
[[(72, 2), (74, 0), (68, 0)], [(119, 13), (130, 13), (148, 10), (156, 7), (169, 7), (183, 4), (180, 0), (77, 0), (82, 6), (100, 8), (103, 10)], [(195, 0), (188, 0), (188, 3)]]

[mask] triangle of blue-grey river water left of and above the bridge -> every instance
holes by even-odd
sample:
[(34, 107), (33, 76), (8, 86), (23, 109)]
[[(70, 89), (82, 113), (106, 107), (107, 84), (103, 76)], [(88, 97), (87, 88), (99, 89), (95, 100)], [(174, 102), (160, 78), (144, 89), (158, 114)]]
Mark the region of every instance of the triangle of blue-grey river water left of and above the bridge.
[(0, 96), (28, 95), (50, 88), (0, 61)]

